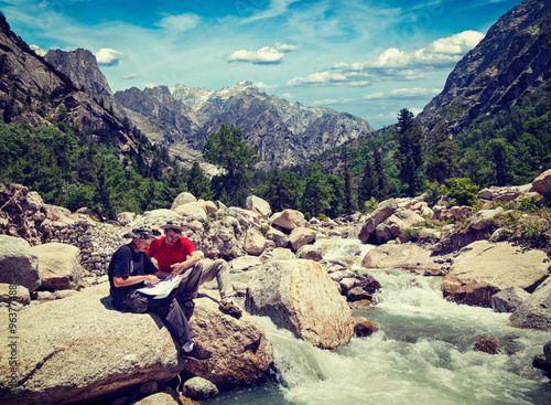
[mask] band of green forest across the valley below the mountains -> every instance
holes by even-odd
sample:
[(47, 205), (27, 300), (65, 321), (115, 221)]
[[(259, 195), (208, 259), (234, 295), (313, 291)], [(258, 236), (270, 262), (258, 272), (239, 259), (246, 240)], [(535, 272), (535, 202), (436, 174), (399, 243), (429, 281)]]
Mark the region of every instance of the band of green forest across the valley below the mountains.
[[(239, 128), (222, 126), (207, 139), (203, 158), (223, 169), (212, 179), (198, 163), (184, 169), (165, 147), (136, 128), (139, 152), (122, 156), (108, 131), (96, 140), (63, 117), (51, 127), (0, 120), (0, 182), (21, 183), (44, 202), (99, 220), (120, 212), (170, 207), (177, 194), (244, 206), (255, 194), (273, 212), (302, 211), (306, 217), (337, 217), (372, 210), (395, 196), (428, 193), (461, 204), (489, 185), (520, 185), (551, 168), (551, 84), (517, 99), (499, 114), (472, 122), (454, 139), (443, 125), (425, 131), (402, 109), (397, 124), (321, 156), (306, 167), (255, 169), (258, 147)], [(128, 121), (126, 122), (128, 125)]]

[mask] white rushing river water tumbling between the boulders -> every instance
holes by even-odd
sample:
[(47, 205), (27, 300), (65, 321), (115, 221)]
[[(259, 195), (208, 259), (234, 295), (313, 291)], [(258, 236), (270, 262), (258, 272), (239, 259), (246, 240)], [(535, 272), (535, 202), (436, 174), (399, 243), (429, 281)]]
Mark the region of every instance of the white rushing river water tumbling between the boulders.
[[(333, 243), (324, 258), (349, 259), (345, 256), (350, 244)], [(369, 246), (360, 247), (363, 257)], [(277, 380), (223, 393), (210, 403), (551, 404), (549, 379), (531, 365), (551, 332), (511, 328), (508, 313), (449, 302), (442, 298), (439, 277), (365, 271), (382, 288), (375, 309), (355, 316), (376, 323), (376, 333), (326, 351), (257, 317), (273, 343)], [(498, 354), (473, 350), (484, 333), (501, 342)]]

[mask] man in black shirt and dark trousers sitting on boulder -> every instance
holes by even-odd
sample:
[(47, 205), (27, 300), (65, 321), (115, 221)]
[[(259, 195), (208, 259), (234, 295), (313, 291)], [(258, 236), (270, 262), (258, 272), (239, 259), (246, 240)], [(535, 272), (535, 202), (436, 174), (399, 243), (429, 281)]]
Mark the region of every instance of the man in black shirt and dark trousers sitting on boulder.
[(194, 332), (173, 294), (154, 299), (154, 296), (137, 291), (147, 283), (159, 283), (159, 271), (144, 252), (160, 235), (159, 231), (149, 227), (134, 228), (123, 235), (132, 241), (114, 253), (107, 270), (112, 303), (119, 310), (155, 313), (164, 321), (183, 359), (208, 360), (213, 353), (192, 341)]

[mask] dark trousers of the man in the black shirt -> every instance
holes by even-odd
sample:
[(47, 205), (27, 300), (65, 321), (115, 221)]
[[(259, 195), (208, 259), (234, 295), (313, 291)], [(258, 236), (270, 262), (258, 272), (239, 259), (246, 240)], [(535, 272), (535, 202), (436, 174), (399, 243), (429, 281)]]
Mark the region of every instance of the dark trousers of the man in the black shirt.
[(132, 312), (153, 312), (159, 316), (164, 321), (179, 349), (195, 335), (172, 294), (166, 298), (154, 299), (152, 296), (131, 291), (125, 299), (125, 307)]

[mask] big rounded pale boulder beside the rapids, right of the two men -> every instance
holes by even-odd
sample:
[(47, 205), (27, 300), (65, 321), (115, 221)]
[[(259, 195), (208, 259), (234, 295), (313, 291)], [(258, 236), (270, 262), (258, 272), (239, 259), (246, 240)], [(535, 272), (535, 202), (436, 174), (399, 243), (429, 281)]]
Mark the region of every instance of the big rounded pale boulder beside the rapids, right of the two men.
[(313, 260), (269, 262), (249, 281), (246, 308), (323, 349), (347, 344), (352, 310), (327, 271)]

